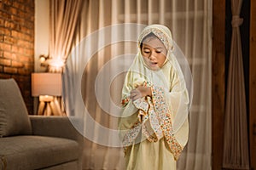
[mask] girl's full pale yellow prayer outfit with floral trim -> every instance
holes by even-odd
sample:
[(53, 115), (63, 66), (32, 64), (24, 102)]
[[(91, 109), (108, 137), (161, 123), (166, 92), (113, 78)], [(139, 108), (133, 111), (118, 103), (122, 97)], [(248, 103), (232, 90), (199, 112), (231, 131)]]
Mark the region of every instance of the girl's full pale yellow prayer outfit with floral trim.
[[(160, 25), (146, 27), (139, 43), (150, 32), (160, 38), (166, 49), (172, 49), (171, 31)], [(131, 101), (130, 92), (137, 84), (150, 87), (152, 97)], [(168, 53), (160, 71), (152, 71), (139, 52), (125, 77), (122, 104), (119, 132), (126, 169), (175, 170), (189, 137), (189, 95), (175, 56)]]

